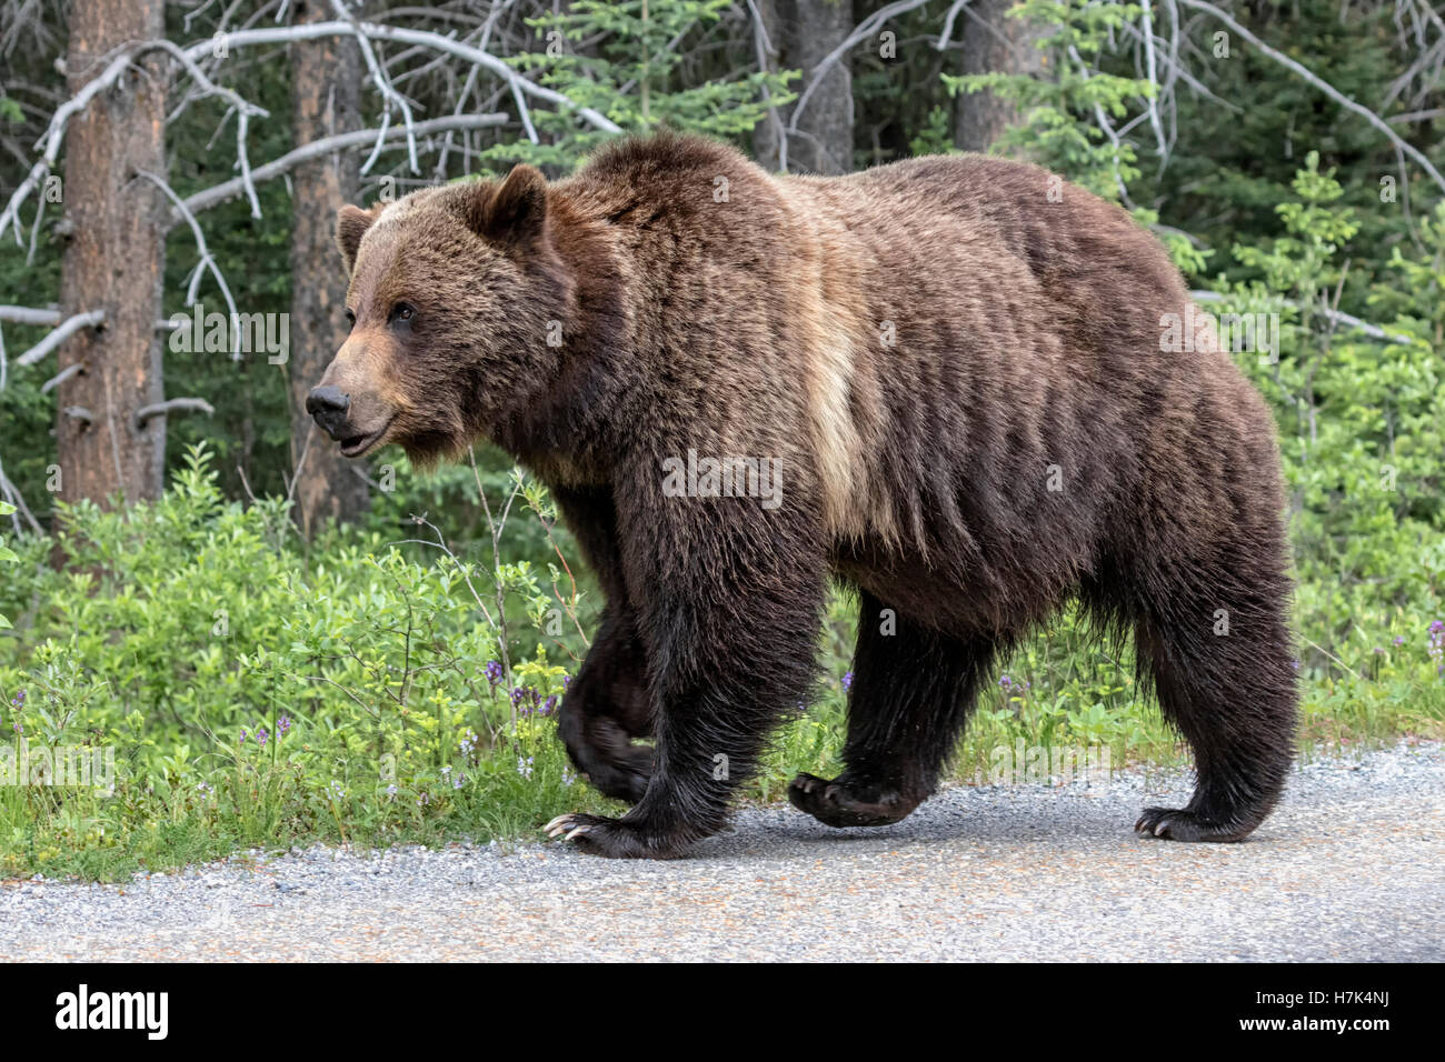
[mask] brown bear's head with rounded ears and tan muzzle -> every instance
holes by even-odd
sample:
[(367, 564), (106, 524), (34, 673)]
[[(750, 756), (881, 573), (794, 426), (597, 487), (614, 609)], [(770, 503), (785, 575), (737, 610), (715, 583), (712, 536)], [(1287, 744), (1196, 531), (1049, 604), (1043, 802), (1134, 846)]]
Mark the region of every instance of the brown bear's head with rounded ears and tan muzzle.
[(575, 303), (549, 218), (546, 178), (413, 192), (342, 207), (337, 244), (351, 332), (306, 412), (361, 457), (400, 444), (422, 465), (465, 451), (555, 383)]

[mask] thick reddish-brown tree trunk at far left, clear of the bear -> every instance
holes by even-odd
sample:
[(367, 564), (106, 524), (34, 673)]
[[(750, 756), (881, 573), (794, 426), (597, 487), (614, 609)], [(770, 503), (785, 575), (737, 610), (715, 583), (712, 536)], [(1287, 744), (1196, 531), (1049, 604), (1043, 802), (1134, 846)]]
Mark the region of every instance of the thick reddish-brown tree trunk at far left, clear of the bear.
[[(85, 0), (71, 6), (71, 92), (127, 40), (163, 36), (162, 0)], [(61, 267), (61, 318), (103, 309), (105, 321), (69, 338), (59, 367), (84, 368), (58, 389), (58, 498), (107, 504), (152, 498), (165, 485), (166, 420), (136, 423), (160, 402), (160, 283), (168, 202), (142, 172), (165, 176), (168, 61), (152, 56), (98, 94), (65, 134), (61, 199), (69, 241)]]

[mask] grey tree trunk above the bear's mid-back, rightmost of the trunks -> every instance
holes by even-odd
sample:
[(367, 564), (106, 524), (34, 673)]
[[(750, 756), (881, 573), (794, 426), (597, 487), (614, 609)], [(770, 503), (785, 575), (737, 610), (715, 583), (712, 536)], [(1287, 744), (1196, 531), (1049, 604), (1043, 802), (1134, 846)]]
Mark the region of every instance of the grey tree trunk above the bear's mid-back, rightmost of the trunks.
[[(1043, 69), (1043, 52), (1035, 46), (1040, 29), (1022, 19), (1006, 17), (1016, 3), (974, 0), (971, 10), (987, 27), (967, 19), (964, 74), (1038, 74)], [(985, 152), (1006, 129), (1019, 123), (1019, 117), (1010, 100), (993, 92), (961, 94), (954, 116), (954, 143), (965, 152)]]

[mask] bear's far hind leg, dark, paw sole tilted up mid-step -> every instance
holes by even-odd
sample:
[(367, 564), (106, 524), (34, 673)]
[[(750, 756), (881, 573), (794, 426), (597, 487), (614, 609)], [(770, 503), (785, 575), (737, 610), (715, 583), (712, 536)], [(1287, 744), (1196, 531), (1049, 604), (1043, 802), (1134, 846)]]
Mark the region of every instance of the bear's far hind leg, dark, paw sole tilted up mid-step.
[(884, 604), (861, 594), (858, 644), (848, 691), (844, 770), (799, 774), (795, 808), (829, 826), (883, 826), (928, 799), (972, 711), (994, 649), (961, 642), (902, 616), (884, 627)]

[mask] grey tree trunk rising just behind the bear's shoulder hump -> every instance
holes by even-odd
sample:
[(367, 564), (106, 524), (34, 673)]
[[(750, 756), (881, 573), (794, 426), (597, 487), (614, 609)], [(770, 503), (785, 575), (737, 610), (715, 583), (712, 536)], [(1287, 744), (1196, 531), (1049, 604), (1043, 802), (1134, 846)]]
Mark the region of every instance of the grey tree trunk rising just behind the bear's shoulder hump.
[[(793, 82), (802, 95), (819, 62), (853, 32), (850, 0), (757, 0), (773, 46), (773, 69), (799, 69)], [(796, 101), (779, 108), (786, 126)], [(777, 127), (770, 118), (753, 133), (757, 162), (780, 169)], [(847, 56), (824, 75), (808, 98), (798, 131), (788, 137), (788, 169), (795, 173), (848, 173), (853, 170), (853, 74)]]

